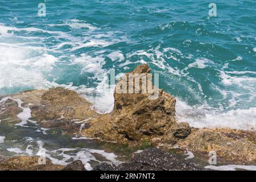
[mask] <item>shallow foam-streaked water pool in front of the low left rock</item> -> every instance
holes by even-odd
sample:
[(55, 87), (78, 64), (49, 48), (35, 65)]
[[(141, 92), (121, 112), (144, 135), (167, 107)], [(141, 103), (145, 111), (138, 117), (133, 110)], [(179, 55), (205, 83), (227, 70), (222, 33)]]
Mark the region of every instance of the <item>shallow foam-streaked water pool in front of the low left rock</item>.
[(0, 124), (0, 157), (14, 155), (38, 155), (49, 158), (52, 163), (67, 165), (81, 160), (86, 169), (92, 169), (101, 162), (121, 164), (131, 158), (133, 150), (116, 143), (92, 139), (74, 139), (61, 135), (61, 131), (31, 124), (30, 127)]

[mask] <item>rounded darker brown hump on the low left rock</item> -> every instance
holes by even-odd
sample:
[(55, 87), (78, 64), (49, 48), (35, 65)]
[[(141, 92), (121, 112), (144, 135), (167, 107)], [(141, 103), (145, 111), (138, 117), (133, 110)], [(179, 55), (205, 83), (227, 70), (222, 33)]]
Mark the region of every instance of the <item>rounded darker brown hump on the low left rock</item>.
[(71, 121), (98, 117), (91, 107), (92, 104), (75, 91), (55, 88), (45, 92), (40, 99), (40, 105), (31, 109), (36, 121), (45, 122), (60, 118)]

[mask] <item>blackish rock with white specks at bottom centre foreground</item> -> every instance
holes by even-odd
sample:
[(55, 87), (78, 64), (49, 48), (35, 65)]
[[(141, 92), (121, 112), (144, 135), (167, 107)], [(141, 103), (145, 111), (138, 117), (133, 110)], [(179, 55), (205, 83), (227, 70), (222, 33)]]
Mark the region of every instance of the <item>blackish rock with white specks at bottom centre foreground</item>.
[(134, 154), (133, 159), (129, 163), (123, 163), (119, 166), (101, 163), (94, 168), (96, 171), (195, 171), (205, 170), (203, 167), (196, 166), (181, 159), (177, 155), (171, 155), (163, 152), (158, 148), (147, 148), (139, 154)]

